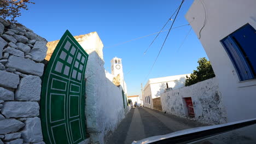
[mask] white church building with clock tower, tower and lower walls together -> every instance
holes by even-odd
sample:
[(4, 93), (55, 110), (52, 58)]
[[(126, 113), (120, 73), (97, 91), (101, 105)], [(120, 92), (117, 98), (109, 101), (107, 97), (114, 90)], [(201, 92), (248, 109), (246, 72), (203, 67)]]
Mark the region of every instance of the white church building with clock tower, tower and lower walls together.
[(111, 74), (108, 73), (108, 71), (105, 71), (106, 77), (113, 82), (114, 78), (119, 75), (118, 81), (120, 82), (120, 85), (123, 88), (125, 95), (127, 95), (127, 88), (124, 80), (122, 59), (114, 57), (113, 59), (111, 59), (110, 63), (111, 63)]

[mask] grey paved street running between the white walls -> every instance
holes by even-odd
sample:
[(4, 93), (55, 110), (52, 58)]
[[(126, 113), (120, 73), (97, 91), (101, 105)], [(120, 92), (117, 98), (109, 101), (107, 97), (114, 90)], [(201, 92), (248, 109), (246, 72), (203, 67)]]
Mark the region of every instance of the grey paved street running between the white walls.
[(132, 143), (155, 135), (165, 135), (174, 131), (204, 126), (201, 123), (180, 118), (167, 113), (137, 107), (131, 109), (117, 130), (109, 136), (107, 144)]

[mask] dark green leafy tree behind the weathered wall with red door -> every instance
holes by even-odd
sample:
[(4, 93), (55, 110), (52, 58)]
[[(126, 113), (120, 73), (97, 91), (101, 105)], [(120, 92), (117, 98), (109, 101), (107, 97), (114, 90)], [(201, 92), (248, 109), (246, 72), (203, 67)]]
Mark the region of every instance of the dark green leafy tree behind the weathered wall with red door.
[(197, 70), (194, 70), (190, 77), (186, 76), (185, 86), (193, 85), (197, 82), (204, 81), (215, 77), (214, 71), (210, 61), (207, 61), (205, 57), (199, 58), (199, 66)]

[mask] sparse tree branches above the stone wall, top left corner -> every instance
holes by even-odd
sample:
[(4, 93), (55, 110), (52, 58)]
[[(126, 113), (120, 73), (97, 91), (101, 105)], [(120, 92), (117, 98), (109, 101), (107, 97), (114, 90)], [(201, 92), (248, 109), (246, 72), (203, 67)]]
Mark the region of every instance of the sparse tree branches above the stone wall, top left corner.
[(0, 0), (0, 16), (5, 20), (16, 23), (16, 17), (21, 16), (21, 9), (28, 10), (27, 4), (34, 4), (30, 0)]

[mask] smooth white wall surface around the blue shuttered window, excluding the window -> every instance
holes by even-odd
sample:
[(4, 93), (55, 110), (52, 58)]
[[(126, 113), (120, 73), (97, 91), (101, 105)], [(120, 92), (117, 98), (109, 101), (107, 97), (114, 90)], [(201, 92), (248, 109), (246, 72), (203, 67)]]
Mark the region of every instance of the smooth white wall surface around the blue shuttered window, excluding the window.
[(256, 29), (255, 8), (255, 0), (195, 0), (185, 16), (211, 61), (228, 122), (256, 117), (256, 79), (240, 82), (220, 40), (246, 23)]

